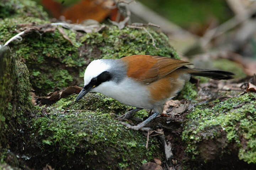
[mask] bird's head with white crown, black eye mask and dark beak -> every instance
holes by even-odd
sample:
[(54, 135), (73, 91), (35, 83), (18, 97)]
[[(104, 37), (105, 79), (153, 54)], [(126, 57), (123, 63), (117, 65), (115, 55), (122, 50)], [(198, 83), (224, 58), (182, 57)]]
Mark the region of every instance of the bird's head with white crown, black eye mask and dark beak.
[(94, 60), (86, 68), (84, 73), (84, 87), (76, 97), (76, 102), (86, 93), (95, 91), (102, 83), (112, 79), (110, 64), (106, 60)]

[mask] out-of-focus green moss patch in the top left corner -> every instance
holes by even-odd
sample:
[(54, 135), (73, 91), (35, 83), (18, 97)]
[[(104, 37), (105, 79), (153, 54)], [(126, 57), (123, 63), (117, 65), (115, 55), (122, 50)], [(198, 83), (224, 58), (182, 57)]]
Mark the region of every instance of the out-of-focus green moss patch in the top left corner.
[(28, 16), (48, 20), (48, 14), (43, 11), (41, 5), (31, 0), (1, 0), (0, 1), (0, 18)]

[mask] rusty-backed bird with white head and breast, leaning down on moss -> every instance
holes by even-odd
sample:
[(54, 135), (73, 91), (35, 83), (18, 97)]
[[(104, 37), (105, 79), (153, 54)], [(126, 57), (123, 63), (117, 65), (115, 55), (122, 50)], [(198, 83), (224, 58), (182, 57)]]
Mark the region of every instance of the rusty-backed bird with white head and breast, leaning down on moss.
[[(216, 80), (231, 79), (228, 71), (188, 68), (190, 62), (156, 55), (131, 55), (120, 59), (92, 61), (84, 73), (84, 87), (76, 102), (88, 92), (102, 93), (120, 103), (136, 109), (119, 117), (122, 125), (142, 130), (146, 124), (162, 114), (167, 100), (174, 98), (192, 76)], [(153, 114), (138, 125), (132, 126), (122, 120), (128, 119), (141, 109), (153, 109)]]

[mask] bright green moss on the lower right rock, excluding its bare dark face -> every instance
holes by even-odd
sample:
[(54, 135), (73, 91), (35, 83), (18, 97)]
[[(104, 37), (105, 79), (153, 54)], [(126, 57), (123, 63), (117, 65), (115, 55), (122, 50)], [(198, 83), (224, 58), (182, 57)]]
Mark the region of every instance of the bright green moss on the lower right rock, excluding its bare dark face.
[(193, 157), (202, 155), (202, 150), (198, 149), (200, 142), (222, 138), (222, 149), (234, 145), (239, 150), (240, 160), (256, 163), (255, 99), (255, 93), (246, 93), (223, 102), (215, 100), (196, 106), (183, 124), (182, 140), (187, 145), (186, 152)]

